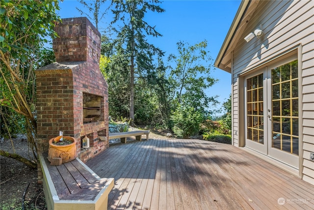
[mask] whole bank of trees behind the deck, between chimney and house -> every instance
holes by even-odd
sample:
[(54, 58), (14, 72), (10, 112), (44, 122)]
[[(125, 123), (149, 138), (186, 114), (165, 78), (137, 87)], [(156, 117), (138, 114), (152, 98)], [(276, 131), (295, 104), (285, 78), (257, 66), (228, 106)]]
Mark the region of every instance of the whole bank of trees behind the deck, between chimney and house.
[(134, 119), (136, 124), (167, 126), (178, 136), (188, 137), (199, 131), (200, 119), (208, 119), (213, 113), (216, 96), (207, 95), (206, 90), (217, 80), (210, 77), (207, 41), (195, 45), (178, 42), (178, 56), (172, 54), (168, 59), (175, 66), (169, 69), (164, 65), (163, 53), (146, 38), (161, 34), (144, 21), (146, 12), (164, 11), (158, 3), (112, 1), (111, 27), (117, 37), (111, 41), (102, 36), (101, 51), (105, 56), (101, 58), (101, 71), (109, 87), (109, 115)]

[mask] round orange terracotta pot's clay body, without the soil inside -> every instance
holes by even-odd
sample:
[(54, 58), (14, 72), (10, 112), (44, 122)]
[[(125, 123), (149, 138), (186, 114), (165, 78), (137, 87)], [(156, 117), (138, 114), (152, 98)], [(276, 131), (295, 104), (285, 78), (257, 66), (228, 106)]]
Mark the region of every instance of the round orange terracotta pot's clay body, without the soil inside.
[(52, 142), (58, 142), (61, 136), (49, 140), (48, 160), (52, 162), (52, 158), (62, 158), (62, 163), (69, 162), (78, 157), (77, 140), (71, 136), (63, 136), (63, 138), (71, 140), (69, 145), (54, 145)]

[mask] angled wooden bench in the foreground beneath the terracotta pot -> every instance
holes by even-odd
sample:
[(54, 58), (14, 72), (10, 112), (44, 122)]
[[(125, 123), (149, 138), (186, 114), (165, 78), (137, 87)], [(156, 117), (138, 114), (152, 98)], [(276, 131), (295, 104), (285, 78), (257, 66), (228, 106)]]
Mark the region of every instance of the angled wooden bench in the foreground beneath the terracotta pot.
[(113, 178), (101, 179), (78, 158), (52, 166), (45, 154), (39, 154), (39, 161), (48, 210), (107, 209)]

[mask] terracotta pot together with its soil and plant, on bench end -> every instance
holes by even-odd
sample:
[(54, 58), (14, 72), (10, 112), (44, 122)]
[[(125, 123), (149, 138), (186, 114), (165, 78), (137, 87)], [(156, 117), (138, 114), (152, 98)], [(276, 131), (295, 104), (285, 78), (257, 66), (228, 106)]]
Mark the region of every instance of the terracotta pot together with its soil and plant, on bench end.
[(71, 136), (58, 136), (49, 140), (48, 160), (61, 165), (78, 157), (77, 140)]

